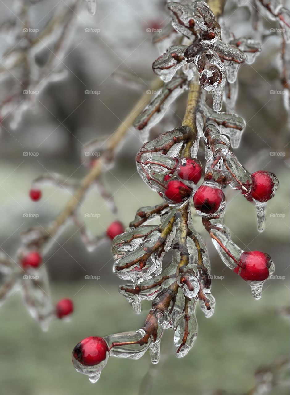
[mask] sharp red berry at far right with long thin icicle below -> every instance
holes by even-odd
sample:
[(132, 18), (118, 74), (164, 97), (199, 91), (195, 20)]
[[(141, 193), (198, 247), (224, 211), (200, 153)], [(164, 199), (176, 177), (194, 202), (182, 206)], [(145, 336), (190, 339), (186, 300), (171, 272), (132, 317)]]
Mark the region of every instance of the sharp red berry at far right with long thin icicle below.
[(279, 181), (275, 174), (270, 173), (269, 171), (259, 170), (253, 173), (251, 177), (251, 198), (260, 202), (265, 202), (273, 198), (279, 185)]

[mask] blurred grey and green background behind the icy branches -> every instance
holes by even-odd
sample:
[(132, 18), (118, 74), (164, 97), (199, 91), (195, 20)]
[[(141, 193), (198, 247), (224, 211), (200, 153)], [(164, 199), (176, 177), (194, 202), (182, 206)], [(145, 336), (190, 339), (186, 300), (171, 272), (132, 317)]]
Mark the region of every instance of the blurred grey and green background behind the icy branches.
[[(72, 181), (84, 177), (87, 168), (82, 165), (81, 150), (85, 143), (97, 136), (112, 134), (148, 89), (154, 78), (151, 64), (160, 53), (151, 43), (152, 33), (146, 30), (169, 22), (164, 4), (161, 0), (98, 0), (97, 13), (92, 17), (84, 2), (74, 27), (70, 28), (66, 55), (59, 65), (68, 71), (67, 77), (51, 83), (38, 94), (34, 108), (24, 113), (17, 130), (11, 129), (10, 116), (3, 120), (0, 248), (11, 257), (15, 258), (19, 232), (37, 222), (46, 224), (70, 198), (65, 190), (47, 186), (43, 188), (43, 198), (34, 203), (28, 197), (32, 180), (46, 171), (60, 173)], [(53, 13), (65, 7), (62, 0), (36, 4), (31, 9), (32, 27), (40, 26), (41, 30)], [(234, 12), (235, 8), (232, 1), (226, 5), (226, 26), (236, 37), (250, 36), (249, 11), (239, 8)], [(10, 1), (1, 1), (0, 9), (2, 22), (13, 17)], [(265, 21), (265, 32), (269, 32), (271, 26), (275, 24)], [(4, 53), (11, 47), (9, 32), (1, 32), (1, 38)], [(97, 250), (89, 253), (77, 228), (67, 227), (45, 261), (53, 299), (70, 297), (75, 303), (72, 322), (53, 322), (48, 333), (41, 333), (23, 308), (18, 293), (5, 303), (0, 324), (3, 393), (155, 394), (167, 391), (173, 394), (177, 391), (206, 393), (223, 388), (230, 394), (240, 394), (254, 385), (253, 374), (259, 365), (287, 353), (288, 324), (276, 314), (276, 309), (289, 303), (289, 121), (283, 95), (270, 93), (281, 91), (280, 42), (279, 37), (269, 33), (256, 62), (245, 64), (239, 71), (236, 111), (246, 120), (247, 127), (239, 149), (235, 150), (237, 158), (251, 173), (259, 169), (274, 172), (280, 187), (275, 199), (268, 203), (266, 229), (262, 234), (256, 228), (254, 207), (228, 188), (224, 222), (241, 248), (270, 254), (276, 266), (275, 275), (282, 279), (269, 280), (262, 299), (254, 301), (249, 286), (225, 269), (200, 218), (194, 215), (196, 230), (203, 235), (209, 250), (212, 274), (224, 276), (212, 286), (217, 311), (210, 319), (198, 314), (198, 339), (184, 359), (175, 358), (171, 345), (173, 333), (167, 331), (160, 365), (151, 366), (149, 355), (137, 362), (111, 358), (100, 381), (93, 386), (87, 377), (74, 371), (70, 362), (73, 346), (90, 335), (138, 329), (143, 325), (149, 305), (145, 304), (141, 316), (136, 316), (119, 295), (119, 280), (112, 273), (109, 240), (105, 239)], [(44, 46), (38, 55), (39, 61), (48, 55), (49, 49)], [(116, 72), (132, 74), (136, 81), (134, 87), (129, 82), (120, 83), (114, 78)], [(10, 83), (14, 80), (17, 84), (16, 77), (10, 75), (10, 78)], [(5, 90), (6, 82), (3, 84), (2, 100), (9, 93)], [(85, 94), (85, 90), (100, 93)], [(167, 123), (172, 127), (180, 125), (185, 103), (186, 95), (168, 110)], [(162, 131), (166, 129), (157, 125), (152, 137)], [(98, 219), (86, 218), (94, 234), (104, 233), (115, 219), (127, 226), (139, 207), (161, 201), (136, 173), (135, 155), (140, 146), (139, 132), (130, 128), (116, 155), (115, 167), (105, 175), (104, 182), (114, 196), (118, 213), (109, 211), (96, 190), (83, 203), (83, 213), (100, 214)], [(24, 156), (24, 151), (38, 152), (38, 156)], [(200, 154), (202, 151), (201, 142)], [(38, 214), (38, 218), (25, 218), (24, 213)], [(85, 275), (100, 276), (100, 280), (85, 280)]]

